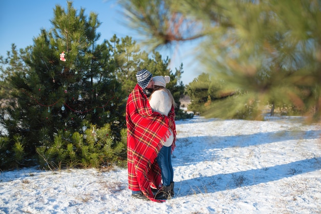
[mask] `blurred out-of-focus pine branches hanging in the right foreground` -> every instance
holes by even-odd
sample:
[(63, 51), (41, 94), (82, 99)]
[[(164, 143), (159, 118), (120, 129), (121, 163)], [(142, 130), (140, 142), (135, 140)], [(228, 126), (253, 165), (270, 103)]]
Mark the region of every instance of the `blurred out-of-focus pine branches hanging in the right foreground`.
[(208, 116), (234, 116), (252, 106), (257, 111), (251, 118), (260, 119), (259, 110), (274, 104), (319, 120), (319, 1), (119, 3), (127, 10), (130, 26), (146, 35), (146, 44), (157, 48), (196, 41), (202, 71), (226, 83), (220, 93), (237, 92), (219, 105), (212, 102)]

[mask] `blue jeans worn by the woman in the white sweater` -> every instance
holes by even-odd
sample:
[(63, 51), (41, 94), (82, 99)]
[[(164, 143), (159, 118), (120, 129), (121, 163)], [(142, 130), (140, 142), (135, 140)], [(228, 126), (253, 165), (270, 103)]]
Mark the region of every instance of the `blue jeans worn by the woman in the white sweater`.
[(172, 146), (163, 146), (160, 149), (156, 161), (162, 171), (163, 186), (168, 186), (173, 182), (174, 171), (172, 167)]

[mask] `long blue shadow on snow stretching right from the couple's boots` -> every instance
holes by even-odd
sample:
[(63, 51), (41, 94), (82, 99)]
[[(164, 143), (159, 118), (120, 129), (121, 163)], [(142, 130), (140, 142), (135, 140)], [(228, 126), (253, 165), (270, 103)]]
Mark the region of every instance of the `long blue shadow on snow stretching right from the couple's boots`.
[[(310, 167), (307, 167), (307, 165)], [(175, 197), (264, 184), (319, 169), (321, 169), (321, 158), (312, 158), (272, 167), (192, 178), (175, 182)]]

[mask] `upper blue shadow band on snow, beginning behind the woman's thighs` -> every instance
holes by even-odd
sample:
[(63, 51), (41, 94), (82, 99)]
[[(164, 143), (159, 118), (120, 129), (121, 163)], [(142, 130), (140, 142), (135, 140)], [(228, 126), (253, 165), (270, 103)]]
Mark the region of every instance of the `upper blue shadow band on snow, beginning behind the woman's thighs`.
[[(319, 139), (321, 130), (309, 131), (273, 131), (233, 136), (199, 136), (177, 138), (173, 153), (173, 167), (217, 159), (216, 152), (226, 148), (242, 148), (284, 141), (305, 142)], [(273, 146), (273, 145), (271, 145)], [(179, 158), (176, 158), (179, 154)]]

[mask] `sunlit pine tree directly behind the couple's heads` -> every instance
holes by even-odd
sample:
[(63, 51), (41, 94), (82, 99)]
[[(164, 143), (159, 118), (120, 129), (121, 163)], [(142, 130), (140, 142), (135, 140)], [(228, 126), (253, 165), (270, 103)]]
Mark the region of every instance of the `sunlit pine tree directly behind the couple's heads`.
[(126, 36), (125, 38), (117, 38), (116, 35), (110, 40), (111, 45), (114, 47), (114, 67), (115, 75), (118, 82), (122, 84), (123, 90), (129, 94), (137, 84), (136, 72), (137, 67), (148, 69), (154, 76), (156, 75), (169, 75), (171, 78), (170, 83), (166, 87), (173, 94), (174, 100), (177, 104), (176, 113), (177, 119), (183, 118), (184, 114), (179, 109), (179, 99), (182, 98), (185, 86), (180, 81), (180, 76), (184, 73), (183, 64), (176, 72), (173, 73), (168, 69), (170, 59), (157, 52), (153, 51), (148, 54), (146, 51), (141, 51), (139, 46), (132, 38)]

